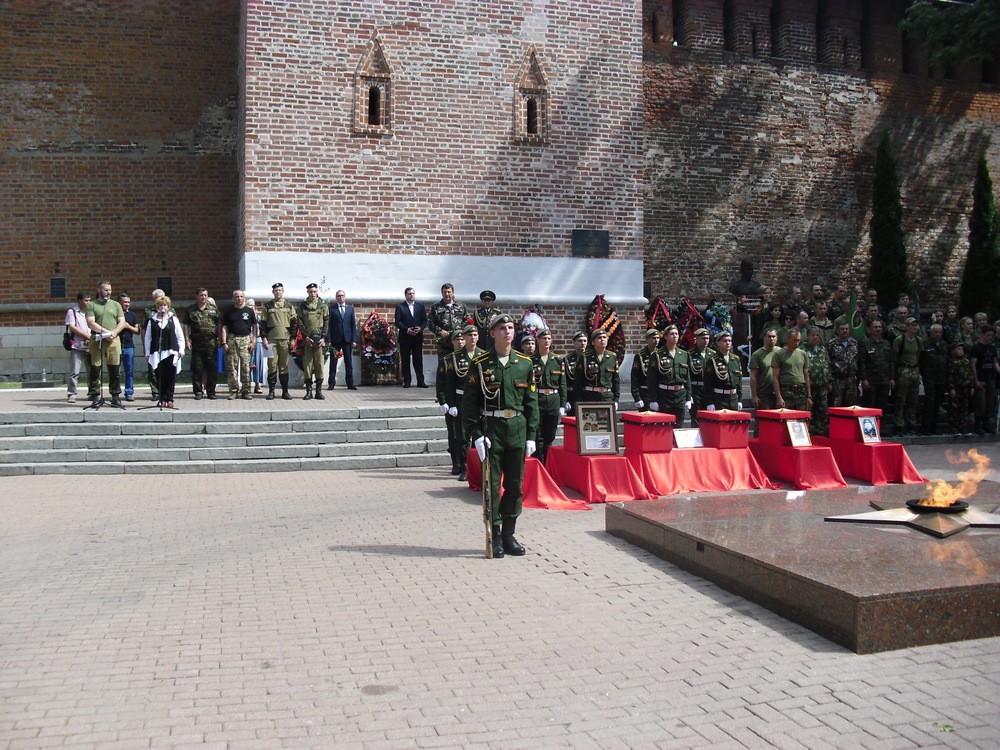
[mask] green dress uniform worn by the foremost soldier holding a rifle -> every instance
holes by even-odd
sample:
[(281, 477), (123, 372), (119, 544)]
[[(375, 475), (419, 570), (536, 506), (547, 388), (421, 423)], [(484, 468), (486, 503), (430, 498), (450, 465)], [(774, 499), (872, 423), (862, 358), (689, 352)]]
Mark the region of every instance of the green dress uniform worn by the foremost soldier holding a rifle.
[(496, 352), (486, 352), (472, 361), (465, 385), (465, 433), (470, 441), (480, 436), (490, 441), (490, 503), (496, 527), (503, 519), (521, 515), (525, 442), (538, 431), (538, 393), (531, 360), (511, 350), (504, 364)]

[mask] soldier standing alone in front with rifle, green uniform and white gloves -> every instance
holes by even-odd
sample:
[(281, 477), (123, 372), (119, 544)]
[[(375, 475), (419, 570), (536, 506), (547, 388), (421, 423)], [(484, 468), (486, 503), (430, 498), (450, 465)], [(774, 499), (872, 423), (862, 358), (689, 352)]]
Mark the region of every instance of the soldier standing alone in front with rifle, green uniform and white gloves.
[(494, 351), (476, 357), (469, 368), (462, 418), (480, 459), (489, 453), (493, 557), (499, 558), (524, 554), (514, 530), (523, 501), (524, 459), (535, 452), (538, 393), (531, 360), (513, 348), (513, 319), (497, 316), (490, 336)]

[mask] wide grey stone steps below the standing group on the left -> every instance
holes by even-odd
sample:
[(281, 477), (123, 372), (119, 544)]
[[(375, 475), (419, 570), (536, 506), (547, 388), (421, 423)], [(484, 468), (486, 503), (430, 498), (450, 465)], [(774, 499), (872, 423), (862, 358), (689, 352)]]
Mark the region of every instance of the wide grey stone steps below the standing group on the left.
[(0, 413), (0, 476), (447, 466), (437, 406)]

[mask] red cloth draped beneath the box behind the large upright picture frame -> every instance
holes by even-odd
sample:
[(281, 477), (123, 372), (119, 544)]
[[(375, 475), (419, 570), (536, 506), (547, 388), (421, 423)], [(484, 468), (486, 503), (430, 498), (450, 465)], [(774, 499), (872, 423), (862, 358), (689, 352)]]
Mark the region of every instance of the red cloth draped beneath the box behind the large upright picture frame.
[(580, 456), (553, 445), (549, 448), (546, 468), (557, 484), (576, 490), (588, 503), (653, 497), (624, 456)]

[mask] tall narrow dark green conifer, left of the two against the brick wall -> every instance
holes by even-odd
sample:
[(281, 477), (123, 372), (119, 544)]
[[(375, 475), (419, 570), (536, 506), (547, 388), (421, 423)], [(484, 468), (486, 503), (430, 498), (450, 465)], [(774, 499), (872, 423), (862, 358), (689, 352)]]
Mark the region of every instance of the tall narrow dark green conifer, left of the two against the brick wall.
[(896, 157), (888, 129), (875, 153), (872, 184), (872, 218), (868, 224), (872, 242), (868, 286), (878, 291), (884, 304), (895, 304), (901, 292), (910, 291), (906, 279), (906, 242), (903, 238), (903, 201), (899, 194)]

